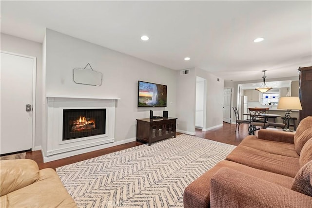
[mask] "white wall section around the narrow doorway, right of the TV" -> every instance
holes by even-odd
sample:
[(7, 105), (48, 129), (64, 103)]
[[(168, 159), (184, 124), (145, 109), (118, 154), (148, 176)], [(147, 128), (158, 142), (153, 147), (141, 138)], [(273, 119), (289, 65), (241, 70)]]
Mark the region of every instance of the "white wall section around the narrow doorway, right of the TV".
[[(190, 69), (188, 75), (177, 72), (177, 131), (195, 134), (196, 76), (206, 79), (206, 121), (203, 131), (223, 125), (224, 80), (198, 68)], [(204, 101), (205, 102), (205, 101)]]

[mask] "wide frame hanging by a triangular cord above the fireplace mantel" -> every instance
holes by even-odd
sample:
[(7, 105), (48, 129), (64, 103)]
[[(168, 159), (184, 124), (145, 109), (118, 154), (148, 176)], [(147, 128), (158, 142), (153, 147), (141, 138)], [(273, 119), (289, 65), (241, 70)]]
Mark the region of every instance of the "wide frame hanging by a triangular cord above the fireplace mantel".
[[(91, 69), (86, 69), (88, 65)], [(102, 73), (94, 71), (89, 63), (83, 69), (80, 68), (74, 69), (73, 79), (76, 84), (101, 86), (102, 77), (103, 77)]]

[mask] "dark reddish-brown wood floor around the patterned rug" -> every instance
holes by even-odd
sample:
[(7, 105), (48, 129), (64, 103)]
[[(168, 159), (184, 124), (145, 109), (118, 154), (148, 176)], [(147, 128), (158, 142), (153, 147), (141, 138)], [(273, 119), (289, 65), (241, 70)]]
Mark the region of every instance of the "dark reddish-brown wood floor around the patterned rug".
[[(178, 133), (177, 133), (178, 134)], [(210, 139), (218, 142), (223, 142), (231, 145), (238, 145), (246, 136), (248, 136), (248, 125), (241, 124), (239, 131), (235, 132), (235, 125), (223, 122), (223, 126), (207, 131), (202, 132), (200, 129), (196, 129), (196, 136)], [(67, 157), (60, 160), (55, 160), (52, 162), (43, 163), (42, 153), (41, 151), (31, 151), (26, 153), (27, 159), (35, 160), (38, 163), (39, 169), (44, 168), (53, 168), (54, 170), (58, 167), (68, 165), (71, 163), (76, 163), (82, 160), (87, 160), (93, 157), (98, 157), (100, 155), (108, 154), (115, 151), (124, 150), (127, 148), (135, 147), (138, 145), (142, 145), (142, 142), (129, 142), (122, 145), (117, 145), (115, 147), (110, 147), (98, 151), (92, 151), (84, 154), (75, 155), (72, 157)]]

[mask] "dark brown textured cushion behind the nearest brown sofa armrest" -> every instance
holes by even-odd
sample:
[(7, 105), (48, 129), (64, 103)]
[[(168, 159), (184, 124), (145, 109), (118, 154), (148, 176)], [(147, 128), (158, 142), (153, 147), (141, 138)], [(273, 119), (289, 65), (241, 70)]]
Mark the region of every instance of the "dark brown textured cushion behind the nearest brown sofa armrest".
[(312, 196), (312, 161), (305, 164), (298, 171), (294, 177), (292, 190)]

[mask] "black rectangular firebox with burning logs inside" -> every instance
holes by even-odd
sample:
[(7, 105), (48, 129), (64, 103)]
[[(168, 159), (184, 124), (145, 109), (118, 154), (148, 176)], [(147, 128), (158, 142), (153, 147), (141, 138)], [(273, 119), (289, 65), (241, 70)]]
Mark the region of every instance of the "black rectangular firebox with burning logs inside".
[(105, 134), (106, 109), (63, 110), (63, 141)]

